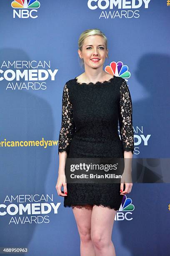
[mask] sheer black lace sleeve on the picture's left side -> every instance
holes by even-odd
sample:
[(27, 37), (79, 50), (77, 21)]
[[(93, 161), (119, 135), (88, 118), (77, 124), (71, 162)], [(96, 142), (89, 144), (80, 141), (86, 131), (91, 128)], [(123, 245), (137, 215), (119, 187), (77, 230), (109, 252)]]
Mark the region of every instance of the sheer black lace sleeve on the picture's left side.
[(62, 93), (62, 124), (59, 135), (58, 155), (59, 152), (69, 154), (70, 143), (75, 132), (75, 124), (73, 121), (73, 108), (70, 102), (69, 90), (65, 84)]

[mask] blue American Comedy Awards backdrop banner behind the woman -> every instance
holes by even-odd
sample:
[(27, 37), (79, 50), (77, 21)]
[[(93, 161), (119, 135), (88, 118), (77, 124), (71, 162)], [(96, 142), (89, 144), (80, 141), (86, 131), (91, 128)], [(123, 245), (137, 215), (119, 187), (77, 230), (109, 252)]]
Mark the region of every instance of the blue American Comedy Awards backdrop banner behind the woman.
[[(152, 168), (169, 158), (169, 23), (169, 0), (0, 1), (0, 255), (80, 255), (72, 208), (55, 185), (62, 91), (84, 72), (83, 31), (105, 33), (103, 69), (128, 83), (133, 157), (156, 159)], [(124, 197), (112, 232), (117, 255), (169, 255), (168, 181), (134, 183)]]

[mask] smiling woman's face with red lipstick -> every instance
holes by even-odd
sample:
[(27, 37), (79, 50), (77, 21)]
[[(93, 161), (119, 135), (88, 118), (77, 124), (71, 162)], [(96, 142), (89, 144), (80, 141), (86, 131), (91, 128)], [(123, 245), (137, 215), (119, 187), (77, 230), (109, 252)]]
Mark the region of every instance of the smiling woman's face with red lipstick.
[(82, 51), (78, 50), (80, 58), (83, 58), (85, 65), (92, 68), (101, 67), (108, 54), (105, 41), (102, 36), (87, 36), (84, 40)]

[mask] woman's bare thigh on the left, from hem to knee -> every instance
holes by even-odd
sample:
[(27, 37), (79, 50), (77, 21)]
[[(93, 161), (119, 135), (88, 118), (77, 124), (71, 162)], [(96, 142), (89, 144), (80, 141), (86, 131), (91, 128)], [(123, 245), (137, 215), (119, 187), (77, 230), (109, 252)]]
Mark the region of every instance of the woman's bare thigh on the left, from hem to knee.
[(77, 223), (77, 228), (80, 236), (91, 236), (91, 216), (92, 205), (85, 205), (85, 207), (72, 207), (73, 214)]

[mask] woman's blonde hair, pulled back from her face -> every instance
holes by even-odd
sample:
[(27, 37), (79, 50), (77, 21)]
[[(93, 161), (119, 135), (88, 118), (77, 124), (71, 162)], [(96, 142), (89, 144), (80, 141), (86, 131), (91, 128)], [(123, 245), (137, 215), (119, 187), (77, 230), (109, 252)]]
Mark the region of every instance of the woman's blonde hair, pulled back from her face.
[[(87, 36), (94, 36), (94, 35), (97, 35), (97, 36), (102, 36), (104, 41), (105, 41), (105, 46), (106, 46), (106, 49), (107, 49), (107, 37), (105, 36), (104, 33), (102, 33), (102, 31), (100, 31), (99, 29), (97, 28), (93, 28), (93, 29), (87, 29), (85, 31), (83, 31), (78, 39), (78, 49), (80, 51), (82, 51), (82, 46), (83, 46), (83, 43), (84, 43), (84, 40)], [(80, 58), (79, 58), (80, 59)], [(83, 59), (80, 59), (80, 65), (81, 67), (84, 66), (84, 60)]]

